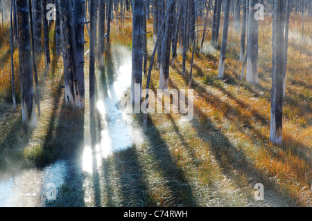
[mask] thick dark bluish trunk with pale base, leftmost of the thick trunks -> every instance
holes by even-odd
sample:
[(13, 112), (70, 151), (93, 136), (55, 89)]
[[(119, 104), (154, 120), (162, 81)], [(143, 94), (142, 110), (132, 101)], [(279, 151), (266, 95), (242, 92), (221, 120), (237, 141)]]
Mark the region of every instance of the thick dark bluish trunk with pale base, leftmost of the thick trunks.
[(28, 3), (17, 0), (19, 23), (19, 71), (21, 75), (21, 112), (23, 123), (33, 128), (37, 125), (31, 65), (31, 33), (29, 28)]

